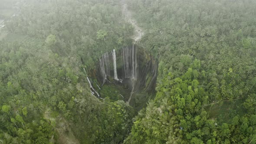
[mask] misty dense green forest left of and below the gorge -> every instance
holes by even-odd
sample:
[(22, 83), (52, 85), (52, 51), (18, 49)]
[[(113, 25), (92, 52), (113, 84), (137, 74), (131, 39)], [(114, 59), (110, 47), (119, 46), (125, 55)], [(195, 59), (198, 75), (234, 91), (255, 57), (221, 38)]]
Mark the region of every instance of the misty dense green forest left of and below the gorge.
[[(124, 101), (91, 95), (82, 68), (131, 41), (117, 1), (34, 1), (6, 23), (19, 41), (0, 42), (0, 140), (4, 143), (118, 143), (131, 129)], [(81, 62), (82, 59), (82, 62)], [(55, 129), (55, 132), (53, 132)]]

